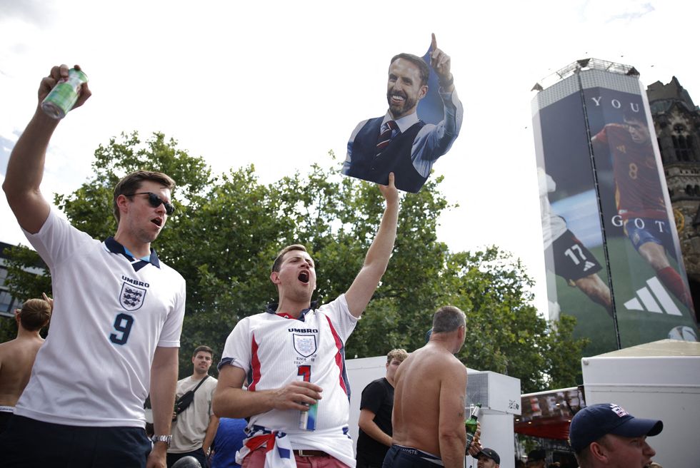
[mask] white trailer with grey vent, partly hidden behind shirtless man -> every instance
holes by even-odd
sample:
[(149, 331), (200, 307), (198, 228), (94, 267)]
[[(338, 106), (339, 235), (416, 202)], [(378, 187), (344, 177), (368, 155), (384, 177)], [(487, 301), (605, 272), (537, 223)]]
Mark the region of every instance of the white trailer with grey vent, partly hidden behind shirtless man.
[[(350, 435), (357, 442), (362, 390), (386, 375), (386, 356), (346, 360), (350, 380)], [(501, 468), (514, 468), (514, 414), (520, 414), (520, 380), (496, 372), (466, 368), (466, 405), (481, 402), (481, 444), (499, 453)], [(467, 409), (469, 410), (469, 409)], [(469, 414), (469, 413), (467, 413)], [(466, 466), (476, 460), (466, 457)]]

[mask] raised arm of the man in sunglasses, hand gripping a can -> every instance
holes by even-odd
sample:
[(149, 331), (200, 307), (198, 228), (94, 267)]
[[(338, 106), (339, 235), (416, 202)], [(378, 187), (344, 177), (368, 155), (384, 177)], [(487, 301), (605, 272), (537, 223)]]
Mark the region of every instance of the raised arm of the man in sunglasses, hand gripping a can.
[[(80, 68), (76, 65), (76, 68)], [(65, 65), (51, 68), (49, 76), (41, 80), (39, 85), (39, 104), (34, 116), (19, 137), (7, 163), (7, 172), (2, 188), (5, 191), (7, 203), (14, 212), (19, 225), (27, 232), (39, 232), (44, 221), (49, 216), (49, 203), (46, 201), (39, 185), (44, 177), (44, 160), (46, 148), (49, 147), (51, 135), (54, 134), (59, 121), (54, 120), (41, 111), (41, 101), (51, 88), (56, 86), (59, 79), (68, 77), (68, 67)], [(90, 97), (90, 90), (85, 83), (78, 102), (74, 107), (81, 106)]]

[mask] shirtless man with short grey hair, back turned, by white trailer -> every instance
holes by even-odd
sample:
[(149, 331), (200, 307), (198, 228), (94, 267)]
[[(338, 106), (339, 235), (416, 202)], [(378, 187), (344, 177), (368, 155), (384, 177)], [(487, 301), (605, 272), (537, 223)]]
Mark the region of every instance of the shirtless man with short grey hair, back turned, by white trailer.
[[(454, 354), (464, 345), (465, 325), (464, 312), (441, 307), (429, 342), (396, 370), (394, 434), (384, 468), (464, 467), (466, 369)], [(480, 449), (474, 437), (469, 454)]]

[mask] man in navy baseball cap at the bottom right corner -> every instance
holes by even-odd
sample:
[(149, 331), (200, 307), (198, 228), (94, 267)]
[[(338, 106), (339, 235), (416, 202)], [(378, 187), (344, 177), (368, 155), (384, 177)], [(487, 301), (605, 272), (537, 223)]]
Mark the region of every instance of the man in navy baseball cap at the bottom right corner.
[(634, 417), (619, 405), (601, 403), (581, 409), (571, 419), (569, 444), (581, 468), (644, 467), (656, 452), (646, 443), (664, 429), (657, 419)]

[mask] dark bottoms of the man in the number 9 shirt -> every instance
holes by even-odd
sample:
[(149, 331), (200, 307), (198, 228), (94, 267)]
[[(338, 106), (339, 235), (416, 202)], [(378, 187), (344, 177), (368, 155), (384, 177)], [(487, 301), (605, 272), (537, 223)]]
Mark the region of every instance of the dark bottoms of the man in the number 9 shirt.
[(141, 427), (82, 427), (17, 416), (0, 435), (4, 468), (145, 468)]

